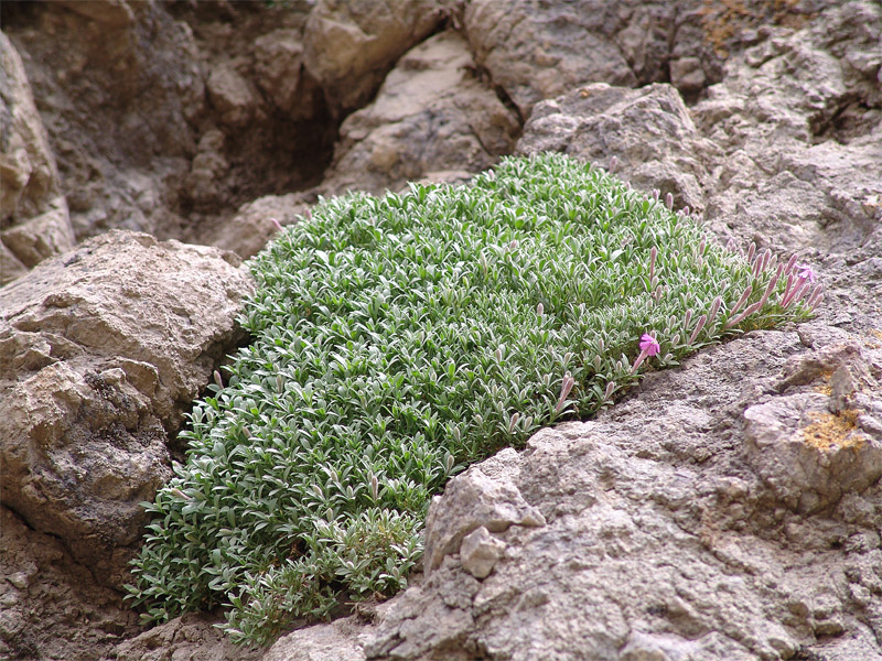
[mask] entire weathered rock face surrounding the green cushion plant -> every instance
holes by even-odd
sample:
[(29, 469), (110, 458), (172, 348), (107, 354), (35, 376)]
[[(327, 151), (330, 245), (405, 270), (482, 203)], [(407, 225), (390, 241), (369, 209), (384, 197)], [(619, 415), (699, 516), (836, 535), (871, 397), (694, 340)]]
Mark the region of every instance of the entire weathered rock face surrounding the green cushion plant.
[[(58, 191), (80, 238), (127, 226), (251, 254), (318, 192), (460, 181), (515, 149), (615, 156), (721, 240), (798, 251), (827, 296), (811, 324), (703, 351), (472, 467), (431, 509), (424, 579), (244, 652), (215, 616), (132, 638), (96, 577), (120, 583), (137, 501), (169, 475), (166, 440), (235, 342), (247, 277), (143, 235), (87, 242), (0, 290), (3, 654), (882, 658), (878, 3), (9, 8), (62, 183), (41, 178), (39, 140), (26, 163), (13, 144), (40, 132), (35, 112), (9, 120), (3, 275), (66, 250)], [(429, 36), (442, 25), (458, 32)], [(6, 127), (26, 104), (3, 102)]]

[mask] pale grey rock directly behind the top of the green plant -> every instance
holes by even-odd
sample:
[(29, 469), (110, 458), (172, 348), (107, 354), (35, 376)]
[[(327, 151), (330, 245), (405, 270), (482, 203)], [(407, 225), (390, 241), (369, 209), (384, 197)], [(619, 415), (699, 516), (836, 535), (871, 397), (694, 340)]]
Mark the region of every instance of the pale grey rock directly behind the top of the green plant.
[[(516, 153), (560, 151), (609, 167), (646, 191), (674, 195), (678, 208), (704, 208), (704, 158), (716, 147), (697, 132), (678, 91), (585, 85), (536, 106)], [(703, 156), (703, 158), (702, 158)]]

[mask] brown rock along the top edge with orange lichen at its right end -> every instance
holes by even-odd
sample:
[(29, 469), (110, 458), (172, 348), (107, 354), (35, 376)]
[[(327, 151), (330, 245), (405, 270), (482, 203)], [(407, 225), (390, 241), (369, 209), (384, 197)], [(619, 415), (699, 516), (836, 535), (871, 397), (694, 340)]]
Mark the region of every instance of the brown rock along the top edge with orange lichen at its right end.
[[(802, 25), (814, 0), (473, 0), (463, 24), (475, 63), (527, 119), (534, 105), (590, 83), (671, 83), (695, 98), (730, 53), (774, 24)], [(759, 30), (757, 30), (759, 29)]]

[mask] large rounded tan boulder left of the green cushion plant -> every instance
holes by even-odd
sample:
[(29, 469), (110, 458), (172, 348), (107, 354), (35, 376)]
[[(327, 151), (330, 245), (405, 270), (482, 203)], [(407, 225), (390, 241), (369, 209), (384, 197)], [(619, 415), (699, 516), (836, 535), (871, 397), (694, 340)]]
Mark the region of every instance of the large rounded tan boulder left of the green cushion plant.
[(250, 280), (216, 248), (112, 231), (0, 290), (2, 500), (118, 585), (171, 476), (166, 440)]

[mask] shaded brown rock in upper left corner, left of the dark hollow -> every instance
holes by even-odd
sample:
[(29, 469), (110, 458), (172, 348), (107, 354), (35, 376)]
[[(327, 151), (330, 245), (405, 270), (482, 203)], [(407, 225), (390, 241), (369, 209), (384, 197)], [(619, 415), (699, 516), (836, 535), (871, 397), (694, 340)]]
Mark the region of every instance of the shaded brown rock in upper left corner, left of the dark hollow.
[(77, 239), (181, 224), (190, 120), (204, 106), (192, 31), (157, 3), (66, 2), (10, 9), (58, 162)]

